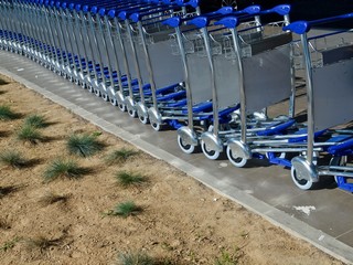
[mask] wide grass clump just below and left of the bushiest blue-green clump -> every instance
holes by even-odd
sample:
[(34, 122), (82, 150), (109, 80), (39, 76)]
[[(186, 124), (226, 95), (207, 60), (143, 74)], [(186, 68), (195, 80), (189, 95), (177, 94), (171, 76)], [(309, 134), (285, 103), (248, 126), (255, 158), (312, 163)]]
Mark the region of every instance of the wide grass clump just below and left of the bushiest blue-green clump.
[(88, 173), (88, 170), (82, 168), (76, 161), (55, 159), (44, 171), (44, 181), (50, 182), (58, 177), (66, 177), (68, 179), (79, 179), (83, 174)]

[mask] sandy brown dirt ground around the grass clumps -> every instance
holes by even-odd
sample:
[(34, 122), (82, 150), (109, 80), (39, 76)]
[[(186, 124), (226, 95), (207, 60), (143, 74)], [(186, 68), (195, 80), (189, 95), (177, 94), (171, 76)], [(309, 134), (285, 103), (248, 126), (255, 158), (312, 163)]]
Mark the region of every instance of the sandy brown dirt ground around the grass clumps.
[[(130, 252), (146, 253), (158, 264), (341, 264), (147, 153), (107, 165), (113, 150), (137, 150), (107, 132), (98, 136), (106, 146), (101, 152), (69, 156), (68, 136), (100, 129), (6, 76), (0, 76), (2, 105), (22, 117), (0, 120), (0, 152), (18, 150), (31, 161), (21, 169), (0, 165), (0, 188), (10, 188), (0, 194), (2, 265), (118, 264), (117, 257)], [(36, 145), (15, 137), (30, 114), (50, 123)], [(72, 158), (90, 173), (43, 182), (43, 172), (57, 157)], [(122, 188), (114, 178), (119, 170), (142, 173), (149, 181)], [(66, 200), (44, 205), (49, 192)], [(103, 214), (124, 201), (143, 211), (128, 218)]]

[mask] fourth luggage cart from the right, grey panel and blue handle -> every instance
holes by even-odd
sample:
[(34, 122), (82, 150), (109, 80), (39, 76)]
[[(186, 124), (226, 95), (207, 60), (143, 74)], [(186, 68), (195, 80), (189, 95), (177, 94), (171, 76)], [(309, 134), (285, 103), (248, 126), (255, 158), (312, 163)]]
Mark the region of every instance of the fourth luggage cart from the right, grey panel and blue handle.
[[(216, 18), (229, 12), (233, 12), (233, 9), (226, 7), (208, 15)], [(190, 20), (192, 18), (175, 17), (163, 22), (175, 29), (175, 33), (171, 35), (172, 49), (173, 53), (181, 57), (183, 65), (186, 106), (180, 114), (184, 116), (183, 124), (186, 126), (178, 129), (178, 144), (186, 153), (194, 152), (195, 147), (199, 146), (197, 135), (208, 128), (207, 119), (212, 118), (212, 89), (207, 89), (212, 84), (210, 62), (204, 56), (204, 51), (200, 50), (200, 44), (203, 42), (200, 29), (192, 24), (184, 24)]]

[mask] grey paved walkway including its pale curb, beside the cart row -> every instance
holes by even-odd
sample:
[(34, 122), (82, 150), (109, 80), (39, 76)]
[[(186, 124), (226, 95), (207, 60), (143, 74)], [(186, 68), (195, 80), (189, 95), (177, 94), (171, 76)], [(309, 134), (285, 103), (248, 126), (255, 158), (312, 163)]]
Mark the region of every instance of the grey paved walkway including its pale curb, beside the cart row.
[(244, 205), (330, 255), (353, 264), (353, 208), (351, 193), (335, 187), (301, 191), (290, 172), (264, 162), (234, 168), (227, 159), (207, 160), (185, 155), (175, 131), (154, 131), (87, 91), (56, 76), (23, 56), (0, 51), (0, 73), (146, 152), (163, 159), (207, 187)]

